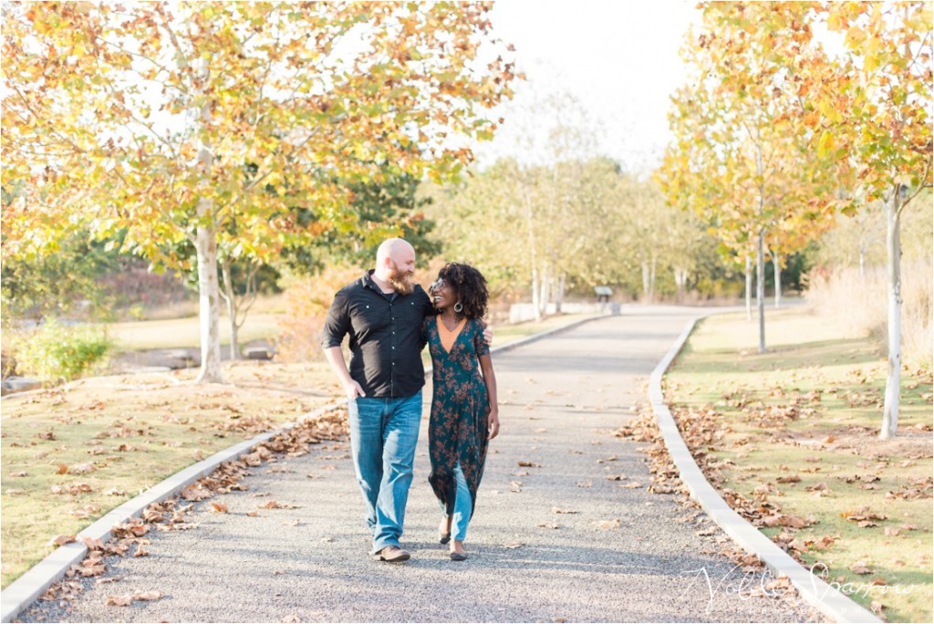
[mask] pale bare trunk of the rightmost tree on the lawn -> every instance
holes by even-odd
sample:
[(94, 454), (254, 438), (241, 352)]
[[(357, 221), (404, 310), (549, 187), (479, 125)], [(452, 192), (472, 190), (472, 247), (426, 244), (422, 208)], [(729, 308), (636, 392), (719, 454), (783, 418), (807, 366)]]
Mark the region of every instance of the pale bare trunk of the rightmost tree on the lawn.
[(885, 403), (882, 414), (883, 440), (899, 430), (899, 398), (901, 391), (901, 240), (899, 206), (900, 185), (885, 203), (885, 243), (888, 248), (888, 373), (885, 376)]

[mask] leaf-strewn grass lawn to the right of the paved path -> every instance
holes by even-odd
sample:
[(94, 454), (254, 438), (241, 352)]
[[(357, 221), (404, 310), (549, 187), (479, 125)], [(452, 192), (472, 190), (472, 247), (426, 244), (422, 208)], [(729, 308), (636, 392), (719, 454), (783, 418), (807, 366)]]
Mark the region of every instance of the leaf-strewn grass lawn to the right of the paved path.
[(849, 583), (856, 602), (931, 621), (930, 371), (903, 372), (899, 435), (883, 441), (879, 345), (804, 308), (770, 310), (766, 332), (771, 350), (759, 354), (756, 322), (706, 319), (665, 377), (673, 411), (715, 414), (718, 435), (701, 447), (716, 464), (708, 473), (806, 519), (763, 531), (797, 539), (800, 559)]

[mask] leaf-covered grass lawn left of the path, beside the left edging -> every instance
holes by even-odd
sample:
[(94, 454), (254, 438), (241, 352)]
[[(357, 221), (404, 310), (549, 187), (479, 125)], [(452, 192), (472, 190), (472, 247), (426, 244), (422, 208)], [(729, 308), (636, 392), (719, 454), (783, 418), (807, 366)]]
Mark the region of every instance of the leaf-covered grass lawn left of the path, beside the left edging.
[(237, 362), (227, 383), (196, 371), (92, 377), (3, 399), (2, 586), (163, 478), (294, 420), (339, 389), (326, 363)]

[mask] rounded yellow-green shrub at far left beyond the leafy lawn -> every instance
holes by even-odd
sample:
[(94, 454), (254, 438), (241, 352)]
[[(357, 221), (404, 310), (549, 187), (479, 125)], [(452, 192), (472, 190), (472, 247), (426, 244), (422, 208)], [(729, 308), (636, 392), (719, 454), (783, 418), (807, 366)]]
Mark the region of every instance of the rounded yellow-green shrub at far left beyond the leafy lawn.
[(19, 370), (50, 386), (82, 376), (103, 362), (113, 347), (106, 333), (88, 326), (66, 327), (51, 319), (21, 339)]

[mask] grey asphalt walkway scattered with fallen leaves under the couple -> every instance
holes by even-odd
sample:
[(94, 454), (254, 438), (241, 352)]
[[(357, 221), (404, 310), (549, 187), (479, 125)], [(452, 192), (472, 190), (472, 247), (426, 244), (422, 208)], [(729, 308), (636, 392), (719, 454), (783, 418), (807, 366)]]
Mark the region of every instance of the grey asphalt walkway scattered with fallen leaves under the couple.
[[(348, 447), (328, 445), (255, 469), (248, 491), (213, 499), (229, 514), (202, 503), (191, 515), (196, 529), (156, 533), (148, 557), (116, 560), (107, 577), (119, 580), (89, 582), (69, 610), (45, 605), (22, 618), (821, 621), (797, 599), (737, 592), (758, 579), (711, 554), (719, 548), (713, 525), (685, 521), (671, 496), (645, 491), (642, 444), (609, 434), (632, 416), (644, 381), (690, 314), (627, 310), (494, 355), (502, 434), (488, 457), (466, 562), (448, 560), (437, 543), (423, 427), (403, 536), (413, 559), (405, 564), (368, 556)], [(430, 388), (425, 396), (427, 425)], [(623, 487), (633, 482), (642, 487)], [(295, 507), (247, 516), (270, 499)], [(108, 595), (147, 590), (165, 596), (106, 606)]]

